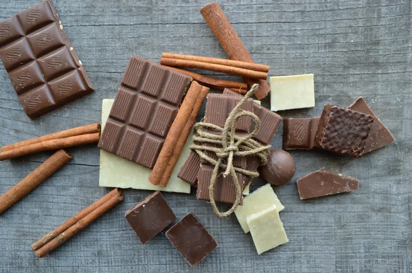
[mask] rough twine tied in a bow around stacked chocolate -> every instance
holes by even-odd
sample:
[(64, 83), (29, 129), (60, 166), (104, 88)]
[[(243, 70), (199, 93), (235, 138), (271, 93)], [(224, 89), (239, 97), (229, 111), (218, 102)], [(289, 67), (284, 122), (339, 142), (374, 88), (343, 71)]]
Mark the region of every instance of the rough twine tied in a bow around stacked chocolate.
[[(225, 121), (224, 128), (207, 122), (198, 122), (194, 125), (193, 141), (194, 143), (202, 144), (193, 144), (190, 145), (190, 148), (194, 150), (204, 161), (207, 161), (209, 164), (214, 165), (214, 170), (211, 175), (209, 184), (209, 200), (211, 202), (211, 206), (214, 209), (214, 212), (219, 217), (227, 217), (231, 215), (231, 213), (233, 213), (233, 211), (235, 211), (240, 204), (242, 198), (242, 187), (240, 187), (236, 173), (251, 176), (251, 178), (259, 176), (259, 173), (257, 171), (249, 171), (247, 169), (234, 167), (233, 156), (258, 156), (260, 158), (261, 165), (265, 165), (267, 162), (271, 145), (262, 145), (258, 141), (252, 139), (260, 129), (259, 117), (253, 112), (240, 110), (240, 107), (242, 107), (244, 102), (246, 102), (247, 99), (249, 99), (249, 97), (253, 95), (253, 93), (255, 93), (255, 91), (258, 89), (258, 86), (258, 84), (253, 84), (247, 94), (244, 95), (244, 97), (235, 106), (235, 108), (231, 110), (229, 117), (227, 117)], [(250, 117), (251, 120), (255, 123), (253, 132), (247, 134), (246, 137), (236, 135), (236, 125), (241, 117)], [(221, 134), (207, 132), (207, 130), (210, 131), (210, 129), (214, 130), (215, 132), (220, 132)], [(216, 147), (216, 144), (218, 147)], [(206, 154), (206, 152), (214, 152), (218, 160), (216, 161), (216, 159), (211, 158)], [(231, 209), (224, 213), (221, 213), (218, 210), (216, 202), (214, 200), (214, 185), (216, 183), (216, 178), (219, 175), (220, 168), (225, 169), (223, 177), (227, 177), (229, 175), (232, 177), (233, 183), (236, 188), (236, 200), (235, 202), (233, 202)]]

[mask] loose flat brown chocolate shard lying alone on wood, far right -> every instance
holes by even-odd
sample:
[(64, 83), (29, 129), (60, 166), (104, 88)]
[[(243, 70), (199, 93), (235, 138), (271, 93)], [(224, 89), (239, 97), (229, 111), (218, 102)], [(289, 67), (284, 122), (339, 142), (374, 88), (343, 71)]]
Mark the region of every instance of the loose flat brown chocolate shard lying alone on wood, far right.
[(325, 168), (303, 176), (296, 182), (301, 199), (354, 191), (359, 185), (358, 179)]

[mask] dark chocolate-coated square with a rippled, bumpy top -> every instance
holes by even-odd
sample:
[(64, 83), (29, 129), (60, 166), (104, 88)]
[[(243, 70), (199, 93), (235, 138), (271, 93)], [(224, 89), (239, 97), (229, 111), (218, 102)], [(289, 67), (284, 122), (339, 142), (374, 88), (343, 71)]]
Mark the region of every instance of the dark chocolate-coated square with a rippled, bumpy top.
[(369, 115), (328, 104), (323, 108), (314, 145), (361, 157), (373, 122), (374, 118)]

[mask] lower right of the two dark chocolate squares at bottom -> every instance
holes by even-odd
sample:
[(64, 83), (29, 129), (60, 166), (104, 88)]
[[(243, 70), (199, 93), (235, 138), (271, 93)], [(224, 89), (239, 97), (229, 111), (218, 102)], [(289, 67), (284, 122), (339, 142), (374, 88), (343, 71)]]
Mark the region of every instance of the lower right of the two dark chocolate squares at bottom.
[(193, 215), (185, 215), (167, 232), (170, 243), (180, 252), (183, 259), (194, 266), (210, 254), (218, 243), (205, 226)]

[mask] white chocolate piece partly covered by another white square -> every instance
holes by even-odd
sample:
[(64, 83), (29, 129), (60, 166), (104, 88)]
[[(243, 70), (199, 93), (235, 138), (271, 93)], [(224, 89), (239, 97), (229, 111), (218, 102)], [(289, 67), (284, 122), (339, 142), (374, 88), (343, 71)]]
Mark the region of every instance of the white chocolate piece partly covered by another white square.
[(246, 218), (253, 213), (263, 211), (272, 205), (276, 205), (278, 212), (285, 208), (280, 203), (270, 184), (260, 187), (253, 191), (253, 193), (247, 195), (247, 197), (243, 198), (243, 205), (238, 206), (235, 214), (244, 233), (249, 233), (249, 226), (247, 225)]

